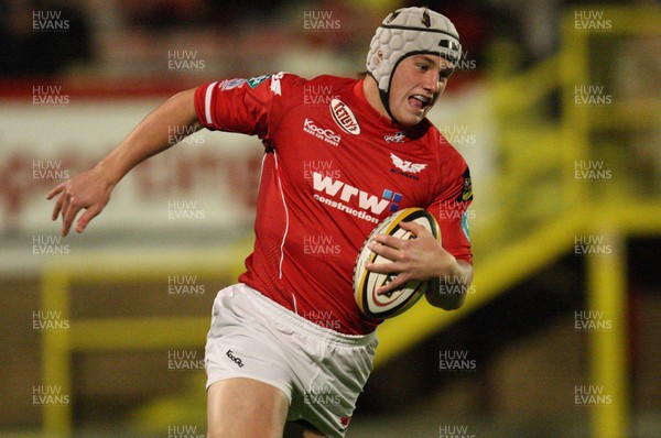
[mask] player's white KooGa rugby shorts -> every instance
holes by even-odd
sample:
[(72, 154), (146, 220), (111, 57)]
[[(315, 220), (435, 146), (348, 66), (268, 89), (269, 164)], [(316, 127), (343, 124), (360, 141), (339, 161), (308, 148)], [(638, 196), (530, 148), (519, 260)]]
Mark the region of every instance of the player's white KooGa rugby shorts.
[(344, 437), (356, 399), (371, 373), (375, 333), (350, 336), (321, 327), (245, 284), (214, 302), (205, 368), (208, 387), (248, 377), (280, 388), (289, 421)]

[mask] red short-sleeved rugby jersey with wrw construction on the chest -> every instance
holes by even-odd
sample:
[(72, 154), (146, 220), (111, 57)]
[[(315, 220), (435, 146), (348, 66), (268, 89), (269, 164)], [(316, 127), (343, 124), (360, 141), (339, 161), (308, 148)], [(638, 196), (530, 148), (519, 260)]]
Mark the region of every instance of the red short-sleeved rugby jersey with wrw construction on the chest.
[(380, 322), (354, 300), (360, 247), (393, 211), (422, 207), (443, 247), (470, 262), (470, 175), (426, 119), (403, 129), (366, 100), (361, 79), (278, 73), (206, 84), (203, 127), (258, 135), (266, 149), (256, 243), (239, 277), (280, 305), (350, 335)]

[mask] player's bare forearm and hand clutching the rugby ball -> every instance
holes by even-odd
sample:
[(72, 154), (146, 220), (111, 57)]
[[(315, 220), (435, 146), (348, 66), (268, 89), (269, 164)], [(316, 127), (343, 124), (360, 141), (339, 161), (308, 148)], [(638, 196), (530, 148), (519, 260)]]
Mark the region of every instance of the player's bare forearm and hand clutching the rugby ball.
[(444, 310), (462, 307), (473, 282), (473, 265), (445, 250), (420, 223), (402, 222), (400, 227), (415, 234), (415, 239), (378, 234), (369, 244), (371, 251), (392, 263), (368, 263), (366, 267), (381, 274), (398, 274), (377, 293), (393, 291), (411, 280), (430, 281), (425, 296), (432, 306)]

